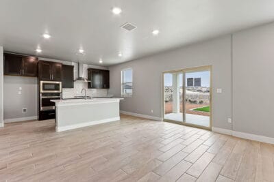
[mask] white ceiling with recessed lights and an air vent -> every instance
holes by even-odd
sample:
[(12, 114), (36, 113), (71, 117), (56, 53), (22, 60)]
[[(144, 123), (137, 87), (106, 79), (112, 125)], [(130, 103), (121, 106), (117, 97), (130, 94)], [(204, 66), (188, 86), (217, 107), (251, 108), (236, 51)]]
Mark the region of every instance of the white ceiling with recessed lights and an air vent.
[[(112, 7), (121, 7), (114, 15)], [(273, 0), (1, 0), (5, 51), (113, 65), (274, 20)], [(132, 22), (138, 28), (120, 28)], [(153, 36), (151, 31), (159, 29)], [(45, 40), (42, 34), (51, 35)], [(36, 54), (40, 46), (42, 52)], [(75, 52), (83, 48), (86, 55)], [(123, 57), (118, 53), (123, 52)]]

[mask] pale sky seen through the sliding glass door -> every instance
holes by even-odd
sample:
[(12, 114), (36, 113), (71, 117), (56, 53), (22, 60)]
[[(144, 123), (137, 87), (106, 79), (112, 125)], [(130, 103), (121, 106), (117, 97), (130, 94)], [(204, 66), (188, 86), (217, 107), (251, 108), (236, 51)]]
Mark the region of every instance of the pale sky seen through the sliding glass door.
[[(179, 85), (182, 87), (183, 78), (182, 74), (180, 74)], [(192, 72), (186, 73), (187, 78), (201, 78), (201, 87), (210, 87), (210, 72)], [(172, 86), (172, 74), (164, 74), (164, 86)]]

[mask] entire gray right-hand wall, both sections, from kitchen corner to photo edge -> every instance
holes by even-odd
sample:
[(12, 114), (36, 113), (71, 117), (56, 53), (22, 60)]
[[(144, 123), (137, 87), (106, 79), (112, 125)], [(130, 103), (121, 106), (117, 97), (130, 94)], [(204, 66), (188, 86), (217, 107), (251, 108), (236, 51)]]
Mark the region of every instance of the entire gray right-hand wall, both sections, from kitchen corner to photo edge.
[[(213, 66), (213, 126), (274, 137), (274, 23), (110, 67), (110, 93), (121, 95), (121, 70), (133, 68), (133, 96), (121, 110), (161, 117), (162, 72)], [(223, 93), (216, 93), (216, 88)], [(154, 112), (151, 113), (150, 110)], [(227, 118), (232, 117), (232, 125)]]

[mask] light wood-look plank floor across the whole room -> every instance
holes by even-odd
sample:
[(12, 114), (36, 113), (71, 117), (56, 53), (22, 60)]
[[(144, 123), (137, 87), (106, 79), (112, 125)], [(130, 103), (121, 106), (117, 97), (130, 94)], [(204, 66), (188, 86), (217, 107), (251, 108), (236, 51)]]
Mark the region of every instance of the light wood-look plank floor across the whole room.
[(0, 129), (0, 181), (274, 181), (274, 146), (173, 123), (121, 121), (55, 133)]

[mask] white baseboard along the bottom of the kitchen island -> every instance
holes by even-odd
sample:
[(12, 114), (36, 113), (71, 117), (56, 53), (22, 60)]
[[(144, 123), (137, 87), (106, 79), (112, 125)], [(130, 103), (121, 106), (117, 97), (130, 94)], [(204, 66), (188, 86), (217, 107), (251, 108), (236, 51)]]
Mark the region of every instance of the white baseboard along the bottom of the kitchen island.
[(86, 123), (79, 123), (79, 124), (75, 124), (75, 125), (67, 125), (67, 126), (56, 126), (55, 127), (55, 132), (63, 132), (66, 130), (73, 130), (79, 127), (86, 127), (86, 126), (90, 126), (90, 125), (98, 125), (101, 123), (108, 123), (111, 121), (119, 121), (120, 117), (113, 117), (113, 118), (109, 118), (109, 119), (103, 119), (103, 120), (99, 120), (99, 121), (90, 121), (90, 122), (86, 122)]

